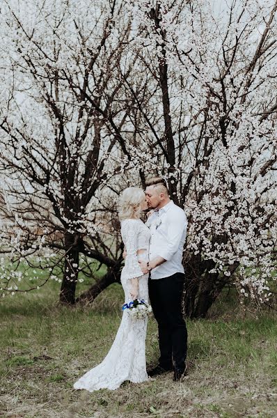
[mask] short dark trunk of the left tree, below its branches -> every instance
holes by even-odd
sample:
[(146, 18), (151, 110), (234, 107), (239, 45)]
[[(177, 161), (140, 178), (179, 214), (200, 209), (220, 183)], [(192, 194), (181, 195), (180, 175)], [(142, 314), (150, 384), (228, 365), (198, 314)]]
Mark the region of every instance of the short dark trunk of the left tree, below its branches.
[(60, 302), (75, 303), (75, 291), (79, 272), (79, 236), (65, 233), (65, 263), (63, 281), (60, 291)]

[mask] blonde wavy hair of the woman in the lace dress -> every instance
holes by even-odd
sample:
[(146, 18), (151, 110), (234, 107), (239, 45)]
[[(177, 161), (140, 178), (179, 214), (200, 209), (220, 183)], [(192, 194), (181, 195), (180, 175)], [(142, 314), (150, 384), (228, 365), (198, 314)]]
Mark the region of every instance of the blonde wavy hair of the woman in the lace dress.
[(145, 194), (139, 187), (127, 187), (123, 190), (118, 201), (118, 217), (120, 221), (123, 219), (139, 219)]

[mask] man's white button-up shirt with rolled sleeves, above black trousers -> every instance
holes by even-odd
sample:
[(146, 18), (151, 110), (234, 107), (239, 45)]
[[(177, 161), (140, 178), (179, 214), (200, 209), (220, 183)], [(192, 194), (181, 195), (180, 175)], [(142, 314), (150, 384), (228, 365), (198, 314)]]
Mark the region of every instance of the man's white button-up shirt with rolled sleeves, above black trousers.
[(151, 270), (151, 279), (162, 279), (184, 272), (182, 253), (187, 235), (187, 217), (184, 210), (170, 201), (155, 210), (146, 224), (150, 229), (149, 259), (160, 256), (166, 261)]

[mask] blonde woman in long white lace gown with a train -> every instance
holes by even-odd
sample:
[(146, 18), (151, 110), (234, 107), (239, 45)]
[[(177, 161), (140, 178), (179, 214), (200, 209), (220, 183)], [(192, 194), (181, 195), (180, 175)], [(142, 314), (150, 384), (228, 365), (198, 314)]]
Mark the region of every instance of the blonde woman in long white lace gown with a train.
[[(121, 273), (125, 303), (144, 299), (148, 302), (148, 274), (143, 274), (139, 260), (148, 261), (150, 231), (140, 219), (148, 208), (143, 190), (128, 187), (120, 199), (121, 235), (127, 256)], [(74, 383), (74, 389), (117, 389), (125, 380), (139, 383), (148, 380), (145, 361), (147, 317), (134, 319), (127, 309), (111, 350), (101, 364), (89, 370)]]

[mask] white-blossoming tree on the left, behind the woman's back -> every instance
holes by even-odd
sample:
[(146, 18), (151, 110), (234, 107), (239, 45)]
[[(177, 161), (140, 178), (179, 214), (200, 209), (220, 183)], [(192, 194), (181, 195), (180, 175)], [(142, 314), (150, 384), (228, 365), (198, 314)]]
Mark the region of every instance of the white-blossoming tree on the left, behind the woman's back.
[[(103, 286), (120, 269), (122, 245), (115, 235), (108, 246), (103, 228), (113, 215), (109, 189), (118, 173), (109, 154), (117, 153), (124, 122), (122, 82), (113, 73), (128, 24), (122, 31), (121, 8), (109, 2), (43, 1), (30, 9), (6, 1), (1, 13), (1, 250), (14, 261), (11, 271), (2, 261), (1, 287), (21, 291), (15, 262), (49, 270), (54, 279), (62, 263), (60, 300), (73, 304), (78, 274), (91, 274), (91, 258), (108, 268)], [(108, 214), (100, 217), (105, 205)], [(80, 254), (89, 261), (80, 263)], [(101, 290), (98, 282), (93, 295)]]

